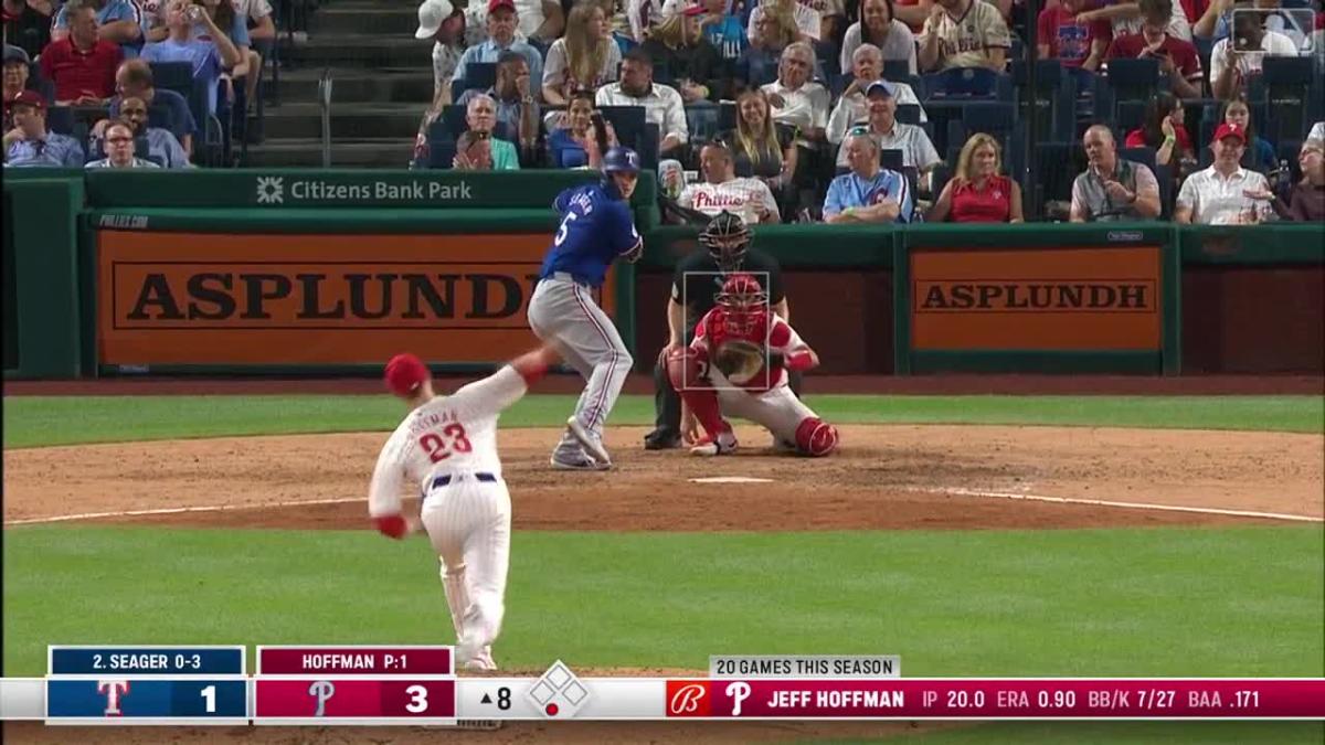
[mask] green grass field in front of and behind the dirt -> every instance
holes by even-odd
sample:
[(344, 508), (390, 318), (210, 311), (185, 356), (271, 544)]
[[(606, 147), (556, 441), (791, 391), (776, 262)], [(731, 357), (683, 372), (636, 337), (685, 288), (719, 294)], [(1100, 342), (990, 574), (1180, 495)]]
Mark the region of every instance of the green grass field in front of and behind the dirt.
[[(386, 396), (7, 398), (5, 448), (384, 430)], [(857, 423), (1320, 433), (1321, 398), (818, 396)], [(616, 424), (644, 424), (628, 396)], [(530, 396), (506, 426), (555, 426)], [(367, 475), (366, 475), (367, 477)], [(448, 643), (421, 540), (130, 526), (4, 530), (4, 672), (48, 643)], [(1325, 676), (1325, 530), (517, 533), (507, 668), (706, 668), (898, 654), (906, 676)], [(346, 619), (355, 619), (347, 623)], [(898, 742), (1320, 742), (1317, 722), (998, 722)]]

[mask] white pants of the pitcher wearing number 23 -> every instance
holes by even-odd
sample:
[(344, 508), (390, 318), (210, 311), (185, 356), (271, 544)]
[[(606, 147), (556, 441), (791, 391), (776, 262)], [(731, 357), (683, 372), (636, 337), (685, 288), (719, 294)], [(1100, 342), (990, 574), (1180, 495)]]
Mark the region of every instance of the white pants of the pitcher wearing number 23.
[(428, 492), (421, 514), (443, 562), (443, 586), (456, 626), (488, 647), (501, 632), (510, 569), (510, 492), (506, 483), (472, 475)]

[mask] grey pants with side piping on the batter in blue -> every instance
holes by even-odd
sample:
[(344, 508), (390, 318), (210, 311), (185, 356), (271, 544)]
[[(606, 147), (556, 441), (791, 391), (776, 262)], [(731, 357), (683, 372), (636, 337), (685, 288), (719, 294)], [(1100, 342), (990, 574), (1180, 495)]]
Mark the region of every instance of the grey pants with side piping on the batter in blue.
[[(554, 274), (534, 288), (529, 326), (587, 380), (575, 404), (575, 418), (602, 439), (603, 424), (635, 365), (612, 319), (594, 302), (587, 286), (564, 274)], [(579, 451), (580, 445), (567, 433), (556, 449)]]

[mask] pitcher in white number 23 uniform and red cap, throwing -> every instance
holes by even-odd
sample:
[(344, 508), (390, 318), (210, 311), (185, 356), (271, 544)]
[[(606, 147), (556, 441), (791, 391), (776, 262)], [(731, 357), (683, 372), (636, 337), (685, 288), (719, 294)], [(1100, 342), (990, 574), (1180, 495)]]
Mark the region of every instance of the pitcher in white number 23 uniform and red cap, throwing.
[(384, 536), (403, 538), (400, 487), (419, 484), (421, 520), (441, 559), (441, 585), (456, 628), (457, 667), (497, 669), (492, 643), (506, 612), (510, 493), (497, 457), (497, 416), (519, 400), (556, 357), (527, 353), (449, 396), (432, 391), (428, 367), (412, 354), (387, 363), (386, 382), (409, 414), (378, 456), (368, 514)]

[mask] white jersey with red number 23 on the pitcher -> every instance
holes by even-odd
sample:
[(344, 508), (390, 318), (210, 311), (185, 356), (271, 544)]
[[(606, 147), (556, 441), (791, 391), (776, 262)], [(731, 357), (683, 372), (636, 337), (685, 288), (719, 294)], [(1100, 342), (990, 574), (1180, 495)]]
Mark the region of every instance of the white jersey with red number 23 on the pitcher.
[(507, 365), (411, 411), (378, 456), (368, 488), (370, 516), (398, 514), (400, 485), (407, 479), (427, 493), (440, 473), (501, 476), (497, 418), (525, 395), (525, 378)]

